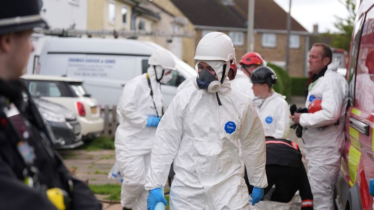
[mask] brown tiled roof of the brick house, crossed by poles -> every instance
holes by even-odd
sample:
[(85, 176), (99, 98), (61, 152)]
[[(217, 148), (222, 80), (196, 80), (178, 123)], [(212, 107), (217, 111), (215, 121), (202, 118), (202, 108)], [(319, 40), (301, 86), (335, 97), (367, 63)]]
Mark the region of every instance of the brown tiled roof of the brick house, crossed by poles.
[[(216, 27), (246, 28), (248, 0), (171, 0), (194, 24)], [(255, 0), (255, 29), (286, 30), (287, 13), (274, 0)], [(292, 31), (307, 31), (291, 18)]]

